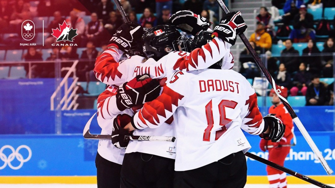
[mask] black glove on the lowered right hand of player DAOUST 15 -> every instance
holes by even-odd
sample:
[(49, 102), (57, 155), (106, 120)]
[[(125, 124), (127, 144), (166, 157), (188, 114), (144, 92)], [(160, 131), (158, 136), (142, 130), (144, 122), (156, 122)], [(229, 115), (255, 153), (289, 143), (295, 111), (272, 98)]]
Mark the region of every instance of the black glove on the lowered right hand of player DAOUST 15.
[(279, 142), (284, 136), (285, 125), (275, 114), (268, 114), (263, 117), (264, 123), (270, 127), (270, 134), (261, 133), (259, 136), (271, 142)]

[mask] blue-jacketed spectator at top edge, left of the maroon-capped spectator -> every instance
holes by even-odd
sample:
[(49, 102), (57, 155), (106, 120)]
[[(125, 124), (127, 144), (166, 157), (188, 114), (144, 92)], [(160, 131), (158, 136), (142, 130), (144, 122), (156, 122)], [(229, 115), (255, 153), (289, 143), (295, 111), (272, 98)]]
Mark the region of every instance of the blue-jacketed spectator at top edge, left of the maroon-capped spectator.
[(304, 4), (304, 0), (287, 0), (283, 7), (284, 15), (282, 15), (282, 22), (289, 25), (294, 16), (299, 13), (299, 8)]

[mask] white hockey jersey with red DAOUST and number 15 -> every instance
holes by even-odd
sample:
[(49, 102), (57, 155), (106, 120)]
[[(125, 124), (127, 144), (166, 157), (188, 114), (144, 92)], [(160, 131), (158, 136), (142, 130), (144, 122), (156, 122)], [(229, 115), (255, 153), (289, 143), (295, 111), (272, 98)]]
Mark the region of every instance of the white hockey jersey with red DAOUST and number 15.
[(178, 71), (160, 96), (134, 115), (138, 129), (157, 128), (174, 114), (177, 133), (175, 170), (192, 170), (251, 146), (250, 134), (264, 129), (257, 96), (250, 83), (233, 70)]

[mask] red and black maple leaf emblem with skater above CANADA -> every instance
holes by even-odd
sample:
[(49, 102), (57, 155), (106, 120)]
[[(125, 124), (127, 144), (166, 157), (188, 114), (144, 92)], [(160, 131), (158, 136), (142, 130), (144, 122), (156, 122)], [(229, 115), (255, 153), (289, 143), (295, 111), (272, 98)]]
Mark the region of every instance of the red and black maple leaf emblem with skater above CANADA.
[(59, 28), (52, 29), (52, 36), (56, 37), (56, 42), (66, 40), (73, 42), (73, 37), (77, 36), (77, 29), (73, 29), (70, 27), (70, 24), (67, 24), (65, 21), (63, 24), (59, 24)]

